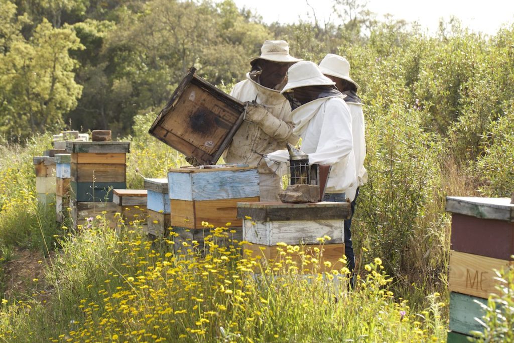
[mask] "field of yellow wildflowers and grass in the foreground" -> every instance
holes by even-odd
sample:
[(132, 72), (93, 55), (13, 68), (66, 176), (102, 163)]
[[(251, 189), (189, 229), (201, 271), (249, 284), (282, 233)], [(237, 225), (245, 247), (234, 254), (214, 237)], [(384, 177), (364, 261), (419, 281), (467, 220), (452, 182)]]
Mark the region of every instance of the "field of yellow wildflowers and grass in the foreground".
[[(62, 253), (47, 265), (46, 304), (4, 301), (0, 341), (53, 342), (325, 342), (444, 341), (438, 294), (411, 312), (388, 290), (381, 260), (365, 265), (354, 291), (342, 270), (320, 272), (316, 257), (283, 246), (266, 262), (206, 223), (206, 247), (146, 241), (137, 227), (121, 235), (103, 219), (63, 234)], [(225, 238), (220, 240), (220, 238)], [(228, 242), (225, 245), (219, 241)], [(322, 240), (321, 240), (322, 241)], [(320, 249), (322, 248), (320, 243)], [(343, 257), (341, 257), (343, 258)], [(326, 267), (326, 266), (324, 266)]]

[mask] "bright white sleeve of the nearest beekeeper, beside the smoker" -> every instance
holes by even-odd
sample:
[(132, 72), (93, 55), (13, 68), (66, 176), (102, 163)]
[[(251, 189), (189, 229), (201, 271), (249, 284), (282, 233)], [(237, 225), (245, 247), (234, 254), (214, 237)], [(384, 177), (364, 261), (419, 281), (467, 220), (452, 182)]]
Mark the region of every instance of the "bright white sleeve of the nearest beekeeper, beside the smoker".
[(309, 154), (309, 164), (334, 165), (353, 150), (352, 116), (342, 101), (327, 101), (322, 111), (318, 147)]

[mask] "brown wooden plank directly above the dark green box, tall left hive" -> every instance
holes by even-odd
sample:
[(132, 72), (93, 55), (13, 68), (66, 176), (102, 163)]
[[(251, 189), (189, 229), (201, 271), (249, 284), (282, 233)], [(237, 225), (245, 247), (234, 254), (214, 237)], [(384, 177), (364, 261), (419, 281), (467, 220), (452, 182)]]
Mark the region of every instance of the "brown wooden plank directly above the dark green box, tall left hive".
[(71, 164), (71, 180), (74, 182), (125, 182), (125, 165)]

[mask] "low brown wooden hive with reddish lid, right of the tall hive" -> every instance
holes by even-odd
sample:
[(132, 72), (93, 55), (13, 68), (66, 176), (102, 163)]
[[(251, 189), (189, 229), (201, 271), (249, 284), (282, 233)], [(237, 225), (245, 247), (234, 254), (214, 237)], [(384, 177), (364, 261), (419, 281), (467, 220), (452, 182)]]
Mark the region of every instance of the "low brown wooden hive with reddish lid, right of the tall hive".
[(146, 225), (146, 189), (115, 189), (113, 203), (118, 206), (125, 225)]

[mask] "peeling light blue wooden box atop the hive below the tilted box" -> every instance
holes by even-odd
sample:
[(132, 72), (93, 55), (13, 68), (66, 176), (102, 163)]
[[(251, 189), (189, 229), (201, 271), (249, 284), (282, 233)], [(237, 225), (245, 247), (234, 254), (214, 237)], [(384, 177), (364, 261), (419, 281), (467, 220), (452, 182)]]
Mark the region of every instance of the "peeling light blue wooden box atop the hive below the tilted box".
[(170, 198), (177, 200), (221, 200), (260, 194), (256, 168), (219, 168), (209, 173), (172, 171), (168, 173), (168, 185)]

